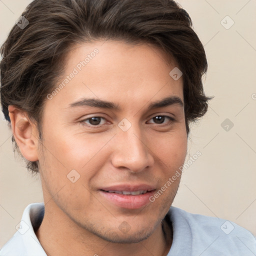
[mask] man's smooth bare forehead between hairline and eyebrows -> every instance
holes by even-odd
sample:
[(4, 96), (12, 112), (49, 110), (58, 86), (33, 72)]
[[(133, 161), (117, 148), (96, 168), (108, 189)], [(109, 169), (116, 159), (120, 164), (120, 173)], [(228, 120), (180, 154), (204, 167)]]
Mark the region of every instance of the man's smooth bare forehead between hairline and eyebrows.
[(123, 107), (141, 107), (143, 102), (167, 96), (183, 101), (182, 76), (174, 80), (169, 75), (175, 61), (170, 62), (153, 45), (110, 40), (77, 44), (65, 61), (63, 75), (56, 83), (61, 89), (50, 104), (64, 107), (82, 97), (105, 99)]

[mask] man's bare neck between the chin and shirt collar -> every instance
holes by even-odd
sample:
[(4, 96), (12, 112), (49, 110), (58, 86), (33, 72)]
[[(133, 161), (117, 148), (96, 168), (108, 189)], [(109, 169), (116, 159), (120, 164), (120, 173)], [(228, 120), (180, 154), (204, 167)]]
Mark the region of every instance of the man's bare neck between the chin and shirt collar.
[(47, 255), (166, 256), (170, 249), (172, 230), (164, 220), (138, 243), (113, 243), (78, 226), (60, 209), (51, 211), (49, 206), (46, 205), (42, 223), (35, 231)]

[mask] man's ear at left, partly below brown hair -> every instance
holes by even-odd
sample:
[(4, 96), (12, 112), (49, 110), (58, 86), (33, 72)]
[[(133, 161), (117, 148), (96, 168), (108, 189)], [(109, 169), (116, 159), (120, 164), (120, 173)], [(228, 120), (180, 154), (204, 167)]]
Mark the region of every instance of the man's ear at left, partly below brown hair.
[(38, 160), (38, 131), (26, 112), (14, 105), (8, 106), (12, 134), (22, 155), (29, 161)]

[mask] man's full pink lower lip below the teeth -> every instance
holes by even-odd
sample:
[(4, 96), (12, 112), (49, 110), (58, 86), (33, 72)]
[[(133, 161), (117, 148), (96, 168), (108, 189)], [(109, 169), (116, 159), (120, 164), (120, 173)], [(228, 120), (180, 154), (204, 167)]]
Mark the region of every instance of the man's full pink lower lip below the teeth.
[(126, 209), (138, 209), (150, 202), (149, 197), (153, 195), (154, 190), (138, 195), (108, 193), (102, 190), (99, 190), (99, 192), (107, 200), (109, 200), (110, 202), (114, 203), (119, 207)]

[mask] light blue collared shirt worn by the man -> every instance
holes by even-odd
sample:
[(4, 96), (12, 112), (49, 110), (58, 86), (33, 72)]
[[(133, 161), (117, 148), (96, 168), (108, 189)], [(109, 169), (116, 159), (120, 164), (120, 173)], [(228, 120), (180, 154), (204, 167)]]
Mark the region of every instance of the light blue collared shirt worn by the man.
[[(20, 228), (2, 247), (0, 256), (46, 256), (34, 233), (43, 214), (43, 203), (29, 204), (23, 212)], [(166, 218), (173, 230), (167, 256), (256, 255), (255, 237), (231, 221), (188, 213), (173, 206)]]

